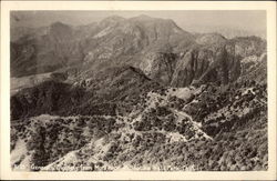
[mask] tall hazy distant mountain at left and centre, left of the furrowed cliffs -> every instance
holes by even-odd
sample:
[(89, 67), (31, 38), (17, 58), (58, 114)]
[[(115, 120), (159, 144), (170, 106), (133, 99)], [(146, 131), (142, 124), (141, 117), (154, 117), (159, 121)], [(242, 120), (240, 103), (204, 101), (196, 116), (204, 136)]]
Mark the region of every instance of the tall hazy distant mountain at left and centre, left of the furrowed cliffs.
[[(82, 67), (96, 59), (103, 62), (166, 43), (177, 46), (187, 39), (192, 41), (193, 37), (171, 20), (110, 17), (78, 28), (55, 22), (43, 34), (30, 33), (11, 42), (11, 74), (43, 73), (75, 63)], [(22, 64), (22, 60), (27, 62)]]

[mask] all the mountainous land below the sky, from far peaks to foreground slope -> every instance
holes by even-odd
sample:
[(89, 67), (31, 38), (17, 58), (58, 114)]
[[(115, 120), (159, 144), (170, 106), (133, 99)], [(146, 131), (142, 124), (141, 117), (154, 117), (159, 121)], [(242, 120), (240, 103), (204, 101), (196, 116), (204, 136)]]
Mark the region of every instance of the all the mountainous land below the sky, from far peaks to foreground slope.
[(114, 16), (12, 28), (10, 46), (12, 168), (267, 169), (261, 38)]

